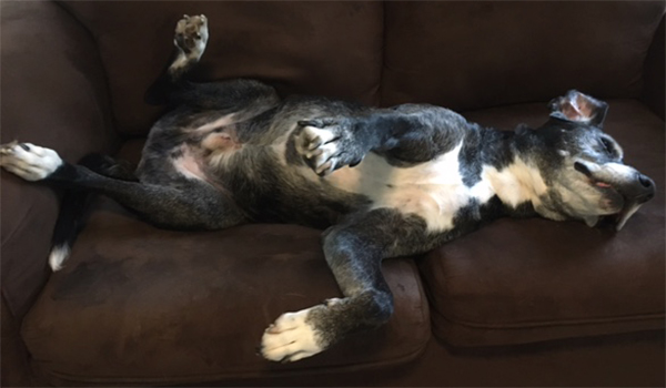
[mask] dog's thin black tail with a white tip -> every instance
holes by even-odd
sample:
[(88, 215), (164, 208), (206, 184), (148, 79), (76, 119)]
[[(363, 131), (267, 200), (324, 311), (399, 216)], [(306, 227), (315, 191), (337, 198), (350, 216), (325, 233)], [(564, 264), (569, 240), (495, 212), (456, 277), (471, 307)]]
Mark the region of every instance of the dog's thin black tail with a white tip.
[[(109, 156), (97, 153), (89, 154), (83, 156), (78, 164), (104, 176), (135, 181), (128, 165), (122, 165)], [(79, 232), (85, 225), (91, 204), (95, 197), (97, 194), (92, 191), (67, 187), (51, 238), (49, 266), (53, 272), (61, 269), (63, 263), (69, 258)]]

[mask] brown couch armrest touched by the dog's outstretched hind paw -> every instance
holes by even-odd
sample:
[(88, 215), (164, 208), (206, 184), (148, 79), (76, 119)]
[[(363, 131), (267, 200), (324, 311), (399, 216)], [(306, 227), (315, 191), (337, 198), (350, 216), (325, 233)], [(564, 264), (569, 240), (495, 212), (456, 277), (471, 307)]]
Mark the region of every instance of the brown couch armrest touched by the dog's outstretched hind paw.
[[(54, 2), (3, 1), (0, 7), (0, 141), (52, 147), (70, 161), (112, 152), (105, 76), (92, 37)], [(20, 324), (50, 274), (58, 195), (4, 171), (0, 182), (2, 297)]]

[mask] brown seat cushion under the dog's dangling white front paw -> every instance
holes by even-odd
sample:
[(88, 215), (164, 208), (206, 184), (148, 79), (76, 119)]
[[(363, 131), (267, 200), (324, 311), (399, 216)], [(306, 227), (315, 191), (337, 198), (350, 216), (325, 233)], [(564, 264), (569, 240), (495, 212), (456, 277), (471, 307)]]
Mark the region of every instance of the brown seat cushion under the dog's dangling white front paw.
[(341, 296), (320, 233), (292, 225), (162, 231), (104, 200), (24, 320), (36, 370), (57, 385), (171, 385), (416, 357), (431, 330), (410, 259), (384, 265), (395, 314), (381, 329), (299, 363), (256, 355), (280, 314)]

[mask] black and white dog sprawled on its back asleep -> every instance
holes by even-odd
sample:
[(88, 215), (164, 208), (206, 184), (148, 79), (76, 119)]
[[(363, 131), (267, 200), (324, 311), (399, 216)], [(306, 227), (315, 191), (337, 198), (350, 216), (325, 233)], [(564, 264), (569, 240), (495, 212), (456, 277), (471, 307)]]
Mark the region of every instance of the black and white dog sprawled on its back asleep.
[[(577, 91), (551, 102), (545, 123), (502, 132), (438, 106), (366, 108), (281, 99), (252, 80), (191, 83), (209, 38), (204, 16), (175, 28), (175, 57), (147, 92), (169, 108), (134, 172), (107, 159), (71, 164), (12, 142), (1, 166), (27, 180), (107, 195), (176, 229), (297, 223), (323, 233), (344, 297), (281, 315), (260, 351), (295, 361), (390, 318), (382, 261), (425, 253), (497, 217), (613, 218), (620, 229), (655, 195), (602, 131), (607, 104)], [(88, 166), (87, 166), (88, 165)], [(56, 244), (56, 270), (69, 246)]]

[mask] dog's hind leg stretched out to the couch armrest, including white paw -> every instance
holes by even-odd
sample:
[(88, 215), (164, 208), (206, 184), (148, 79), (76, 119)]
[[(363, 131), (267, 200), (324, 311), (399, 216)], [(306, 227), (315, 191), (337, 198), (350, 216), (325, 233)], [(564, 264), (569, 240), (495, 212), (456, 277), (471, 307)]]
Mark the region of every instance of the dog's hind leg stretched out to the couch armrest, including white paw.
[(198, 180), (172, 185), (122, 181), (60, 159), (53, 150), (29, 143), (0, 146), (0, 165), (27, 180), (107, 195), (160, 227), (220, 229), (244, 222), (243, 212), (224, 193)]

